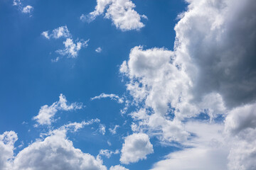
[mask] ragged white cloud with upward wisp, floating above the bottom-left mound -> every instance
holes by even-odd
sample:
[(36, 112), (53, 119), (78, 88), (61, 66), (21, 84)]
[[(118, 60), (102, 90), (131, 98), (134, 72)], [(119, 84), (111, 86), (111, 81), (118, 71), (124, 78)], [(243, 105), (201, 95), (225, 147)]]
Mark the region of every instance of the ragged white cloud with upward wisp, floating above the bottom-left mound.
[(54, 115), (58, 111), (75, 111), (82, 108), (82, 103), (71, 103), (68, 105), (68, 101), (63, 94), (60, 94), (59, 101), (54, 102), (51, 106), (42, 106), (38, 115), (33, 117), (38, 125), (50, 125), (54, 122)]

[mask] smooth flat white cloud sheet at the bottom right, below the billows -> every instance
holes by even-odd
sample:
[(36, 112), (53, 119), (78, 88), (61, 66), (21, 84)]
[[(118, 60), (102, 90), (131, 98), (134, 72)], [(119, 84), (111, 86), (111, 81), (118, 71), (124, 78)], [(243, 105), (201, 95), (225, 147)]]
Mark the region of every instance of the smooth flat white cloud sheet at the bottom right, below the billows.
[(189, 148), (172, 152), (166, 159), (154, 164), (152, 170), (169, 167), (176, 170), (227, 169), (229, 147), (223, 138), (223, 125), (188, 122), (185, 126), (194, 134), (186, 143)]

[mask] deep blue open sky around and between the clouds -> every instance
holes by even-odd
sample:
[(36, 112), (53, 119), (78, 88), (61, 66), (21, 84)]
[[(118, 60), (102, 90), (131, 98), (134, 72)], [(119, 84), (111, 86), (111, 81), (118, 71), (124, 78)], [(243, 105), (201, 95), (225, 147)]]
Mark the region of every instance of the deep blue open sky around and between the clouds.
[[(110, 19), (98, 16), (91, 23), (80, 21), (82, 13), (94, 11), (95, 0), (36, 0), (22, 1), (33, 6), (32, 15), (21, 13), (13, 1), (0, 1), (0, 134), (14, 130), (18, 134), (16, 147), (39, 137), (46, 128), (33, 128), (33, 116), (38, 114), (43, 105), (51, 105), (64, 94), (68, 102), (81, 102), (81, 110), (60, 111), (61, 119), (53, 123), (58, 128), (67, 122), (80, 122), (99, 118), (106, 125), (105, 135), (93, 135), (97, 125), (83, 128), (69, 134), (75, 147), (82, 152), (97, 156), (100, 149), (120, 149), (124, 137), (131, 134), (129, 115), (121, 115), (119, 110), (124, 104), (109, 99), (91, 101), (90, 98), (101, 93), (127, 93), (125, 81), (119, 74), (119, 66), (128, 60), (132, 47), (143, 45), (144, 49), (165, 47), (173, 50), (177, 15), (186, 10), (182, 0), (133, 1), (134, 8), (142, 18), (145, 27), (140, 30), (122, 31), (117, 29)], [(49, 32), (60, 26), (67, 26), (74, 40), (90, 39), (88, 46), (82, 48), (78, 57), (63, 57), (58, 62), (51, 62), (58, 57), (58, 50), (63, 47), (63, 39), (47, 40), (41, 33)], [(102, 48), (97, 53), (95, 49)], [(127, 120), (127, 124), (124, 121)], [(25, 122), (25, 124), (22, 124)], [(119, 128), (118, 135), (111, 135), (107, 130), (114, 125)], [(121, 135), (120, 135), (121, 134)], [(107, 145), (109, 140), (112, 145)], [(156, 140), (154, 138), (152, 141)], [(156, 142), (157, 143), (157, 142)], [(126, 167), (129, 169), (149, 169), (154, 162), (164, 158), (175, 147), (154, 145), (154, 154), (148, 159)], [(15, 152), (18, 152), (16, 149)], [(110, 167), (119, 164), (119, 155), (103, 159)]]

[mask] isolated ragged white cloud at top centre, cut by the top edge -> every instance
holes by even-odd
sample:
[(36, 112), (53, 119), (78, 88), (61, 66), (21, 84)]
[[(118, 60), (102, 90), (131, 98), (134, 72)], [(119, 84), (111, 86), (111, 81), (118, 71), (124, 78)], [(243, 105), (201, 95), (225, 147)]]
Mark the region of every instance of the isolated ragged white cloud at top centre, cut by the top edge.
[(144, 27), (141, 18), (146, 18), (146, 16), (140, 16), (134, 8), (135, 5), (131, 0), (97, 0), (95, 11), (92, 11), (87, 16), (82, 14), (80, 20), (91, 22), (97, 16), (105, 13), (105, 18), (111, 19), (116, 28), (122, 31), (139, 30)]

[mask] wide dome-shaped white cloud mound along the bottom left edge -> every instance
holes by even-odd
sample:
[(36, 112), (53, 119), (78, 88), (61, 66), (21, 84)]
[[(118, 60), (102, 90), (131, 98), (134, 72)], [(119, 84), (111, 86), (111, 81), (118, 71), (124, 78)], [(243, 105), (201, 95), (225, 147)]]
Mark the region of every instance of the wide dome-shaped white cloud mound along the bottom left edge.
[(12, 169), (107, 169), (100, 159), (76, 149), (65, 133), (65, 130), (55, 130), (44, 140), (21, 150)]

